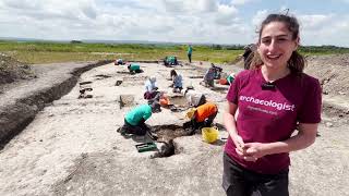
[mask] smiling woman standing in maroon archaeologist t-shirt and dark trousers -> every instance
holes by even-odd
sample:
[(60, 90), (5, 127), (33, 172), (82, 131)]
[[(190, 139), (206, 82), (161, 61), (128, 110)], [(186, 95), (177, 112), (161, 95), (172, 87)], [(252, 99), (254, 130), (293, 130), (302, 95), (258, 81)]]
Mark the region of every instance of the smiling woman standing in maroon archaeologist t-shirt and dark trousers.
[(289, 195), (289, 152), (315, 140), (321, 86), (303, 73), (299, 36), (296, 17), (269, 14), (250, 70), (239, 73), (229, 88), (224, 115), (229, 133), (222, 175), (227, 195)]

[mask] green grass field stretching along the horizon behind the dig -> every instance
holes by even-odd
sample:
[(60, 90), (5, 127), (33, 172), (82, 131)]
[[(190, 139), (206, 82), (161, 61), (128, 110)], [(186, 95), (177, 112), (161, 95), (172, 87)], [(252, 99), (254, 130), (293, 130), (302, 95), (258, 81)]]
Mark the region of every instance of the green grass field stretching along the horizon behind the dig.
[[(233, 62), (243, 53), (243, 46), (193, 46), (194, 61), (209, 61), (214, 63)], [(122, 58), (124, 60), (160, 60), (166, 56), (177, 56), (186, 61), (185, 45), (140, 45), (140, 44), (60, 44), (60, 42), (19, 42), (0, 41), (0, 52), (29, 64), (94, 61)], [(348, 48), (333, 46), (301, 47), (303, 54), (348, 53)]]

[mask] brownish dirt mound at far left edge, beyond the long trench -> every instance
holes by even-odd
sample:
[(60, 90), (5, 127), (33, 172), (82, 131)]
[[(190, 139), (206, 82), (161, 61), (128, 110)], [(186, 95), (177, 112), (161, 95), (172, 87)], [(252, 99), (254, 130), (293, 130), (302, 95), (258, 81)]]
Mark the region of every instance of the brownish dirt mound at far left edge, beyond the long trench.
[(35, 77), (28, 64), (0, 53), (0, 85)]

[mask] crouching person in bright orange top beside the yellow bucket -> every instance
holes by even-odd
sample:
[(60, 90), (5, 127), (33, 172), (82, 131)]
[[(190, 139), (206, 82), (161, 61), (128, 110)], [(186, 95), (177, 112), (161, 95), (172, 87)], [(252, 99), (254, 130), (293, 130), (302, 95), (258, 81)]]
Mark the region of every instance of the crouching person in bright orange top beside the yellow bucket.
[(209, 127), (218, 113), (218, 108), (213, 102), (206, 102), (197, 108), (192, 108), (186, 112), (186, 118), (191, 120), (192, 133), (202, 127)]

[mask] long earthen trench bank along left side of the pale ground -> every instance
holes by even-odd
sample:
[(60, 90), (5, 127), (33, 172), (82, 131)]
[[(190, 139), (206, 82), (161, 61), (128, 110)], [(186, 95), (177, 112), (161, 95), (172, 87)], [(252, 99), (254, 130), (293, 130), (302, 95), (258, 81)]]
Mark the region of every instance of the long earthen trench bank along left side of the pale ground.
[(31, 91), (11, 96), (11, 101), (4, 101), (9, 103), (3, 103), (0, 108), (0, 148), (21, 133), (47, 103), (71, 91), (82, 73), (110, 62), (105, 60), (88, 64), (76, 63), (75, 66), (64, 68), (59, 74), (40, 74), (31, 82)]

